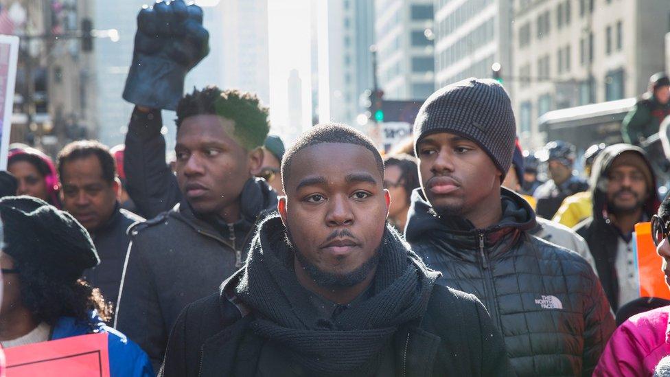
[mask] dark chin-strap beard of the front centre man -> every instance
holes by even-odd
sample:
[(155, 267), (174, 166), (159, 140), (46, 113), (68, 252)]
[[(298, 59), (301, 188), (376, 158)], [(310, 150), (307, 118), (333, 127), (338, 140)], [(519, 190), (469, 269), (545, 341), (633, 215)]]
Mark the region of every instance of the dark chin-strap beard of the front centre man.
[(293, 249), (295, 258), (298, 259), (300, 266), (307, 272), (314, 283), (327, 289), (351, 288), (352, 286), (356, 286), (356, 284), (363, 282), (371, 271), (376, 269), (379, 264), (379, 260), (382, 256), (382, 244), (384, 244), (383, 241), (380, 242), (371, 258), (354, 271), (349, 271), (348, 273), (333, 273), (319, 269), (319, 266), (316, 266), (316, 264), (312, 263), (305, 254), (301, 253), (295, 246), (295, 242), (293, 242), (291, 232), (288, 228), (286, 229), (286, 242), (288, 242), (291, 249)]

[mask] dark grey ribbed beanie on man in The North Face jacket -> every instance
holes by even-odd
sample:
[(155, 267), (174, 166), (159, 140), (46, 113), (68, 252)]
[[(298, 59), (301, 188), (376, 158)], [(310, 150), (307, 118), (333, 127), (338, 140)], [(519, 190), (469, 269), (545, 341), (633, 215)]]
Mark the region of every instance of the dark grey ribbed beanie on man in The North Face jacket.
[[(432, 93), (414, 122), (414, 149), (432, 133), (474, 141), (505, 177), (512, 162), (516, 121), (509, 95), (496, 80), (468, 78)], [(417, 155), (418, 156), (418, 155)]]

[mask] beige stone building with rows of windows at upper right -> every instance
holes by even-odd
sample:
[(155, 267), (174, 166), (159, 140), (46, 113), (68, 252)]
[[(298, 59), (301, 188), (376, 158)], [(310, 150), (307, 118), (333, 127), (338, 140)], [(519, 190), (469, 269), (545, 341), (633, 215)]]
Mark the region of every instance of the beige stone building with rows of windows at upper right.
[(667, 0), (516, 0), (507, 73), (522, 145), (542, 146), (547, 111), (646, 91), (665, 66), (669, 17)]

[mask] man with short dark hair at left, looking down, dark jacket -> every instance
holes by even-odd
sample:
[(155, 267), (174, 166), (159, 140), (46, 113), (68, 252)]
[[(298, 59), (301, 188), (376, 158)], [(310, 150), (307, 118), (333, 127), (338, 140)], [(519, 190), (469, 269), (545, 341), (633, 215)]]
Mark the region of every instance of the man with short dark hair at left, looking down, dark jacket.
[(143, 218), (121, 208), (114, 158), (97, 141), (73, 141), (58, 153), (63, 209), (93, 238), (100, 264), (84, 271), (106, 301), (116, 303), (130, 236), (128, 228)]

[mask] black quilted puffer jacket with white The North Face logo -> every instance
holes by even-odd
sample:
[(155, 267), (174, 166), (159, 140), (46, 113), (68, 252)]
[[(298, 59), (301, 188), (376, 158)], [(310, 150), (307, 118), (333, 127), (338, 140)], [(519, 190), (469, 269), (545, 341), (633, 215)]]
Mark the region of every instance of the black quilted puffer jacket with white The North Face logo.
[(480, 299), (502, 332), (519, 376), (590, 376), (614, 331), (598, 277), (577, 253), (530, 236), (535, 214), (502, 188), (498, 225), (474, 229), (432, 214), (412, 195), (406, 239), (437, 282)]

